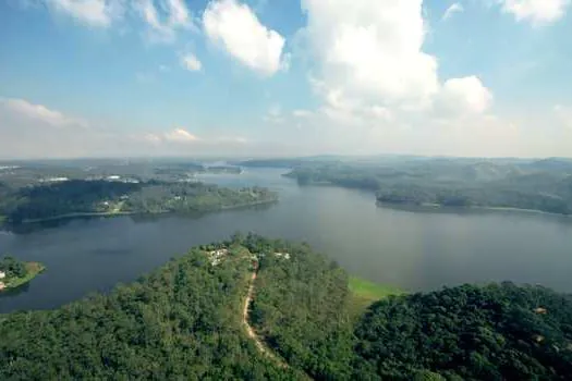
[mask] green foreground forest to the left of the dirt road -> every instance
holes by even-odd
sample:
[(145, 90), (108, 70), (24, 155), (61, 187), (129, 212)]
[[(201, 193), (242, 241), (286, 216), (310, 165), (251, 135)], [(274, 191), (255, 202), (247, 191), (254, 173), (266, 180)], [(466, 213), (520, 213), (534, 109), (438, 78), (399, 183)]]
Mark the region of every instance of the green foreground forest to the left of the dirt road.
[(0, 380), (295, 379), (244, 334), (248, 267), (194, 249), (109, 296), (0, 316)]

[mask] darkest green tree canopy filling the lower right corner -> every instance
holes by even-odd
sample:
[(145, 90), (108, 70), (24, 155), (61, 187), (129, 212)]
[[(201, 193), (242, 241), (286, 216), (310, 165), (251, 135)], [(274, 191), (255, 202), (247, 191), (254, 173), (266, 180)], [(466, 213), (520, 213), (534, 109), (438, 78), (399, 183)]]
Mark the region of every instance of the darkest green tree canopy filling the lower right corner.
[(369, 309), (355, 335), (360, 379), (438, 372), (463, 380), (565, 380), (572, 374), (572, 300), (543, 287), (464, 285), (391, 297)]

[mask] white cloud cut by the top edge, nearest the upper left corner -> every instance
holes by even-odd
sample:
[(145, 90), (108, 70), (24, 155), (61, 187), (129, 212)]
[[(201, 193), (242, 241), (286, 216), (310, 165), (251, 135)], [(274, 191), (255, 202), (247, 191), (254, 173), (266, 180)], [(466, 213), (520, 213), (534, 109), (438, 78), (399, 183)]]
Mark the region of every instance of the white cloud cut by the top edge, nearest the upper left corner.
[(45, 0), (54, 12), (68, 14), (89, 26), (107, 27), (124, 12), (122, 0)]

